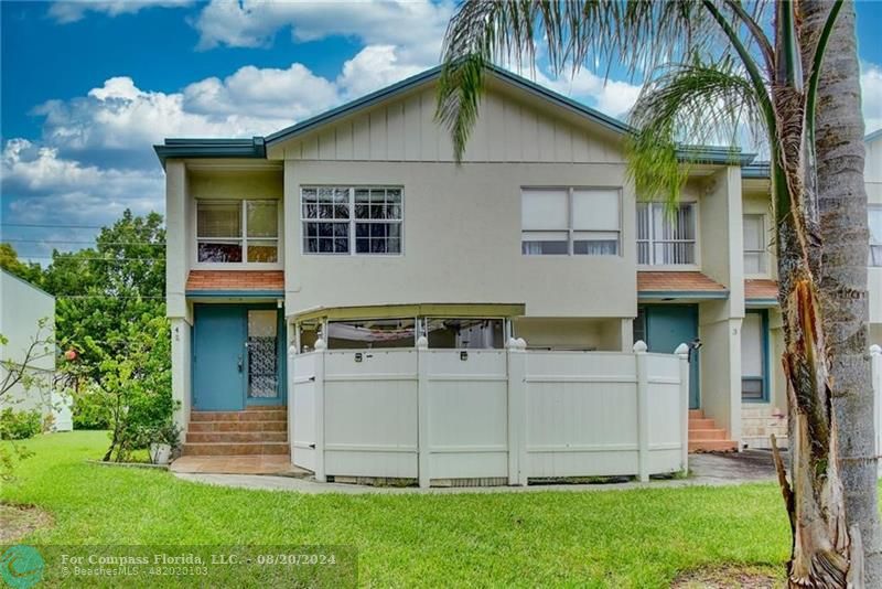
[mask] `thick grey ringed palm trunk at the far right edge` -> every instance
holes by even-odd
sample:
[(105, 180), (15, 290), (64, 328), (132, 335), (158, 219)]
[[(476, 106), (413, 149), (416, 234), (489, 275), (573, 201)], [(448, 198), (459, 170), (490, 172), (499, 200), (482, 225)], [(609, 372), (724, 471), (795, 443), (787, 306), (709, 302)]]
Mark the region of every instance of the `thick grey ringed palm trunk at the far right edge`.
[[(829, 2), (809, 0), (804, 11), (805, 47), (824, 25)], [(816, 149), (818, 212), (824, 257), (821, 306), (830, 352), (839, 471), (848, 525), (858, 524), (868, 587), (882, 587), (873, 390), (868, 355), (867, 192), (860, 72), (854, 7), (842, 6), (827, 46), (818, 86)]]

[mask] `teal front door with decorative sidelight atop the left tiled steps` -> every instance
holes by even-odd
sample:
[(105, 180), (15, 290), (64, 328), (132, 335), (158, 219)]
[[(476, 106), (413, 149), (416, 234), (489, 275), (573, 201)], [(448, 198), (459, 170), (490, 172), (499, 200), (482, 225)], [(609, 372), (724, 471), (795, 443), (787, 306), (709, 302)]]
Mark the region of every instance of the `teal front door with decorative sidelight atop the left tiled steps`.
[(282, 313), (268, 304), (196, 304), (193, 312), (193, 408), (281, 405)]

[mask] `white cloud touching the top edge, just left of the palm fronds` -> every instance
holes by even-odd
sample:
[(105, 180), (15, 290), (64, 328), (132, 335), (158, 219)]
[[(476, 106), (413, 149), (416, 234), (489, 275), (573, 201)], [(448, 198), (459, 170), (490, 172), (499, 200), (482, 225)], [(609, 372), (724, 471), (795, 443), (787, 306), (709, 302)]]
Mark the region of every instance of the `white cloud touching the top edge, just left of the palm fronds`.
[(449, 0), (213, 0), (194, 25), (201, 35), (201, 49), (266, 46), (279, 31), (290, 30), (295, 41), (340, 35), (358, 39), (366, 45), (396, 45), (405, 63), (426, 66), (438, 62), (452, 13), (453, 3)]

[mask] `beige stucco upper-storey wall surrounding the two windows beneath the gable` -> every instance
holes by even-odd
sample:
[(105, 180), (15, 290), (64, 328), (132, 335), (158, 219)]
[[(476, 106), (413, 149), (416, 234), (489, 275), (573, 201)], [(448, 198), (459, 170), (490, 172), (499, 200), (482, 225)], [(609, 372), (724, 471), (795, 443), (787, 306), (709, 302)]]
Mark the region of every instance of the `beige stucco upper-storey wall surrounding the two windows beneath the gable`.
[[(399, 256), (301, 253), (300, 186), (404, 186)], [(624, 164), (286, 162), (286, 312), (413, 302), (525, 303), (528, 315), (634, 317), (634, 215), (619, 256), (524, 256), (521, 186), (623, 188)], [(615, 293), (615, 296), (610, 296)]]

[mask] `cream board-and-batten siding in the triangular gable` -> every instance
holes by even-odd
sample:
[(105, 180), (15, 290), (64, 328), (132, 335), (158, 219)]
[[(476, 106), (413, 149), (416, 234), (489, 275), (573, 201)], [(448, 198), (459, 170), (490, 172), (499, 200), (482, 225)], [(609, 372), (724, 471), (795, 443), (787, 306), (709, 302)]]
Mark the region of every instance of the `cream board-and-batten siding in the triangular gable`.
[[(418, 89), (280, 146), (286, 160), (451, 162), (450, 133), (434, 120), (434, 88)], [(488, 90), (463, 161), (622, 163), (612, 140), (588, 124), (574, 125)]]

